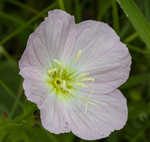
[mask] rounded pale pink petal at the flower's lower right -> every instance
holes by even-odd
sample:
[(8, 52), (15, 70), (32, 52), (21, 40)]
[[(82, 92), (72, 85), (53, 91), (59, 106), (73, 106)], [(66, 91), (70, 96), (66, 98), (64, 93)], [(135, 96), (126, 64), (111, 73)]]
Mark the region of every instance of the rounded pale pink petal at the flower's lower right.
[(110, 94), (95, 95), (86, 104), (74, 102), (68, 111), (72, 132), (86, 140), (105, 138), (121, 129), (127, 121), (126, 99), (119, 90)]

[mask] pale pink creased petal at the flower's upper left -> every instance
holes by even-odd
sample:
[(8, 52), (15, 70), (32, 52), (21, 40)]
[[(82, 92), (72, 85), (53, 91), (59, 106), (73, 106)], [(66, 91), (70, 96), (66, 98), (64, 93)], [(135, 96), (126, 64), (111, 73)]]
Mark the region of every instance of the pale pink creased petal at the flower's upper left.
[(20, 68), (34, 66), (40, 70), (48, 68), (53, 59), (60, 57), (74, 17), (62, 10), (53, 10), (33, 32), (19, 62)]

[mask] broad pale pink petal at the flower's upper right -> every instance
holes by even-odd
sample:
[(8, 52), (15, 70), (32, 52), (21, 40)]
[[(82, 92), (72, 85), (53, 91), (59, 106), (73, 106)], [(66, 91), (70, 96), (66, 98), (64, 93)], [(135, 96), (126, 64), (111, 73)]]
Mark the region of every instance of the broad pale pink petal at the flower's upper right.
[(109, 93), (128, 79), (131, 65), (128, 48), (110, 26), (92, 20), (81, 22), (72, 29), (71, 38), (72, 44), (68, 42), (63, 57), (73, 62), (78, 51), (82, 50), (75, 66), (80, 72), (89, 72), (90, 77), (95, 78), (94, 83), (88, 84), (90, 88)]

